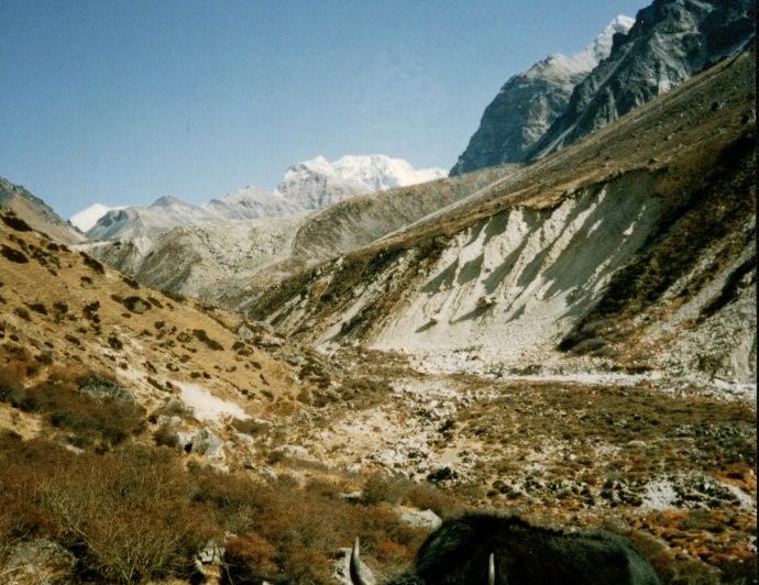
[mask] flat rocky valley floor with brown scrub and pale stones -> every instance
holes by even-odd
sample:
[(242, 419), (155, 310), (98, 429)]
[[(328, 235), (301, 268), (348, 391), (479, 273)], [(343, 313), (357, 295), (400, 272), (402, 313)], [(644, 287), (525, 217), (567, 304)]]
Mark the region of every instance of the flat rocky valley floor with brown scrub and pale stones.
[(332, 361), (367, 380), (362, 401), (283, 421), (285, 465), (374, 470), (542, 525), (606, 526), (672, 582), (694, 571), (732, 582), (754, 570), (755, 385), (433, 373), (408, 356), (354, 350)]

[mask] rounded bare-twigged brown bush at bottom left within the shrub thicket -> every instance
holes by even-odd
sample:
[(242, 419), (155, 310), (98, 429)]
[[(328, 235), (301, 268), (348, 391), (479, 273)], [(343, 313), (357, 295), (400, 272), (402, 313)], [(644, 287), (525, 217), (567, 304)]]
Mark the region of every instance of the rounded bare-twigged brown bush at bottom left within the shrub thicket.
[(165, 450), (85, 454), (51, 475), (42, 504), (64, 541), (84, 547), (82, 562), (96, 581), (187, 574), (193, 554), (216, 536), (191, 503), (187, 475)]

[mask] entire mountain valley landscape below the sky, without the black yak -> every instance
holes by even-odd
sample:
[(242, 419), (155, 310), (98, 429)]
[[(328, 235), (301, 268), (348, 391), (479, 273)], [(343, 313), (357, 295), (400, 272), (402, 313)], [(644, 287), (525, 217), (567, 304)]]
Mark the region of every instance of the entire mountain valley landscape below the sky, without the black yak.
[(389, 580), (490, 510), (756, 583), (755, 22), (615, 18), (449, 176), (319, 156), (70, 222), (2, 179), (0, 578), (350, 585), (361, 536)]

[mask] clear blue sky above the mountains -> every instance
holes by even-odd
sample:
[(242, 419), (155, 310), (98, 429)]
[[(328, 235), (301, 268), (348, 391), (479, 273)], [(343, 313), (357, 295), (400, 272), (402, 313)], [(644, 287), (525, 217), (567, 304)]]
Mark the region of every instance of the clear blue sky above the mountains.
[(510, 75), (647, 3), (2, 0), (0, 175), (68, 217), (318, 154), (450, 168)]

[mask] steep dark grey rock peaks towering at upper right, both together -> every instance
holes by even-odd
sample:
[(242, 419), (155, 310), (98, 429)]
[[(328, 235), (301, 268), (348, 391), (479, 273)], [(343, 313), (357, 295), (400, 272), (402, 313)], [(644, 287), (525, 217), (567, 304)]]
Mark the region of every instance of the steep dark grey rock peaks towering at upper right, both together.
[(756, 34), (751, 0), (654, 0), (617, 16), (583, 52), (510, 78), (451, 169), (541, 158), (737, 53)]

